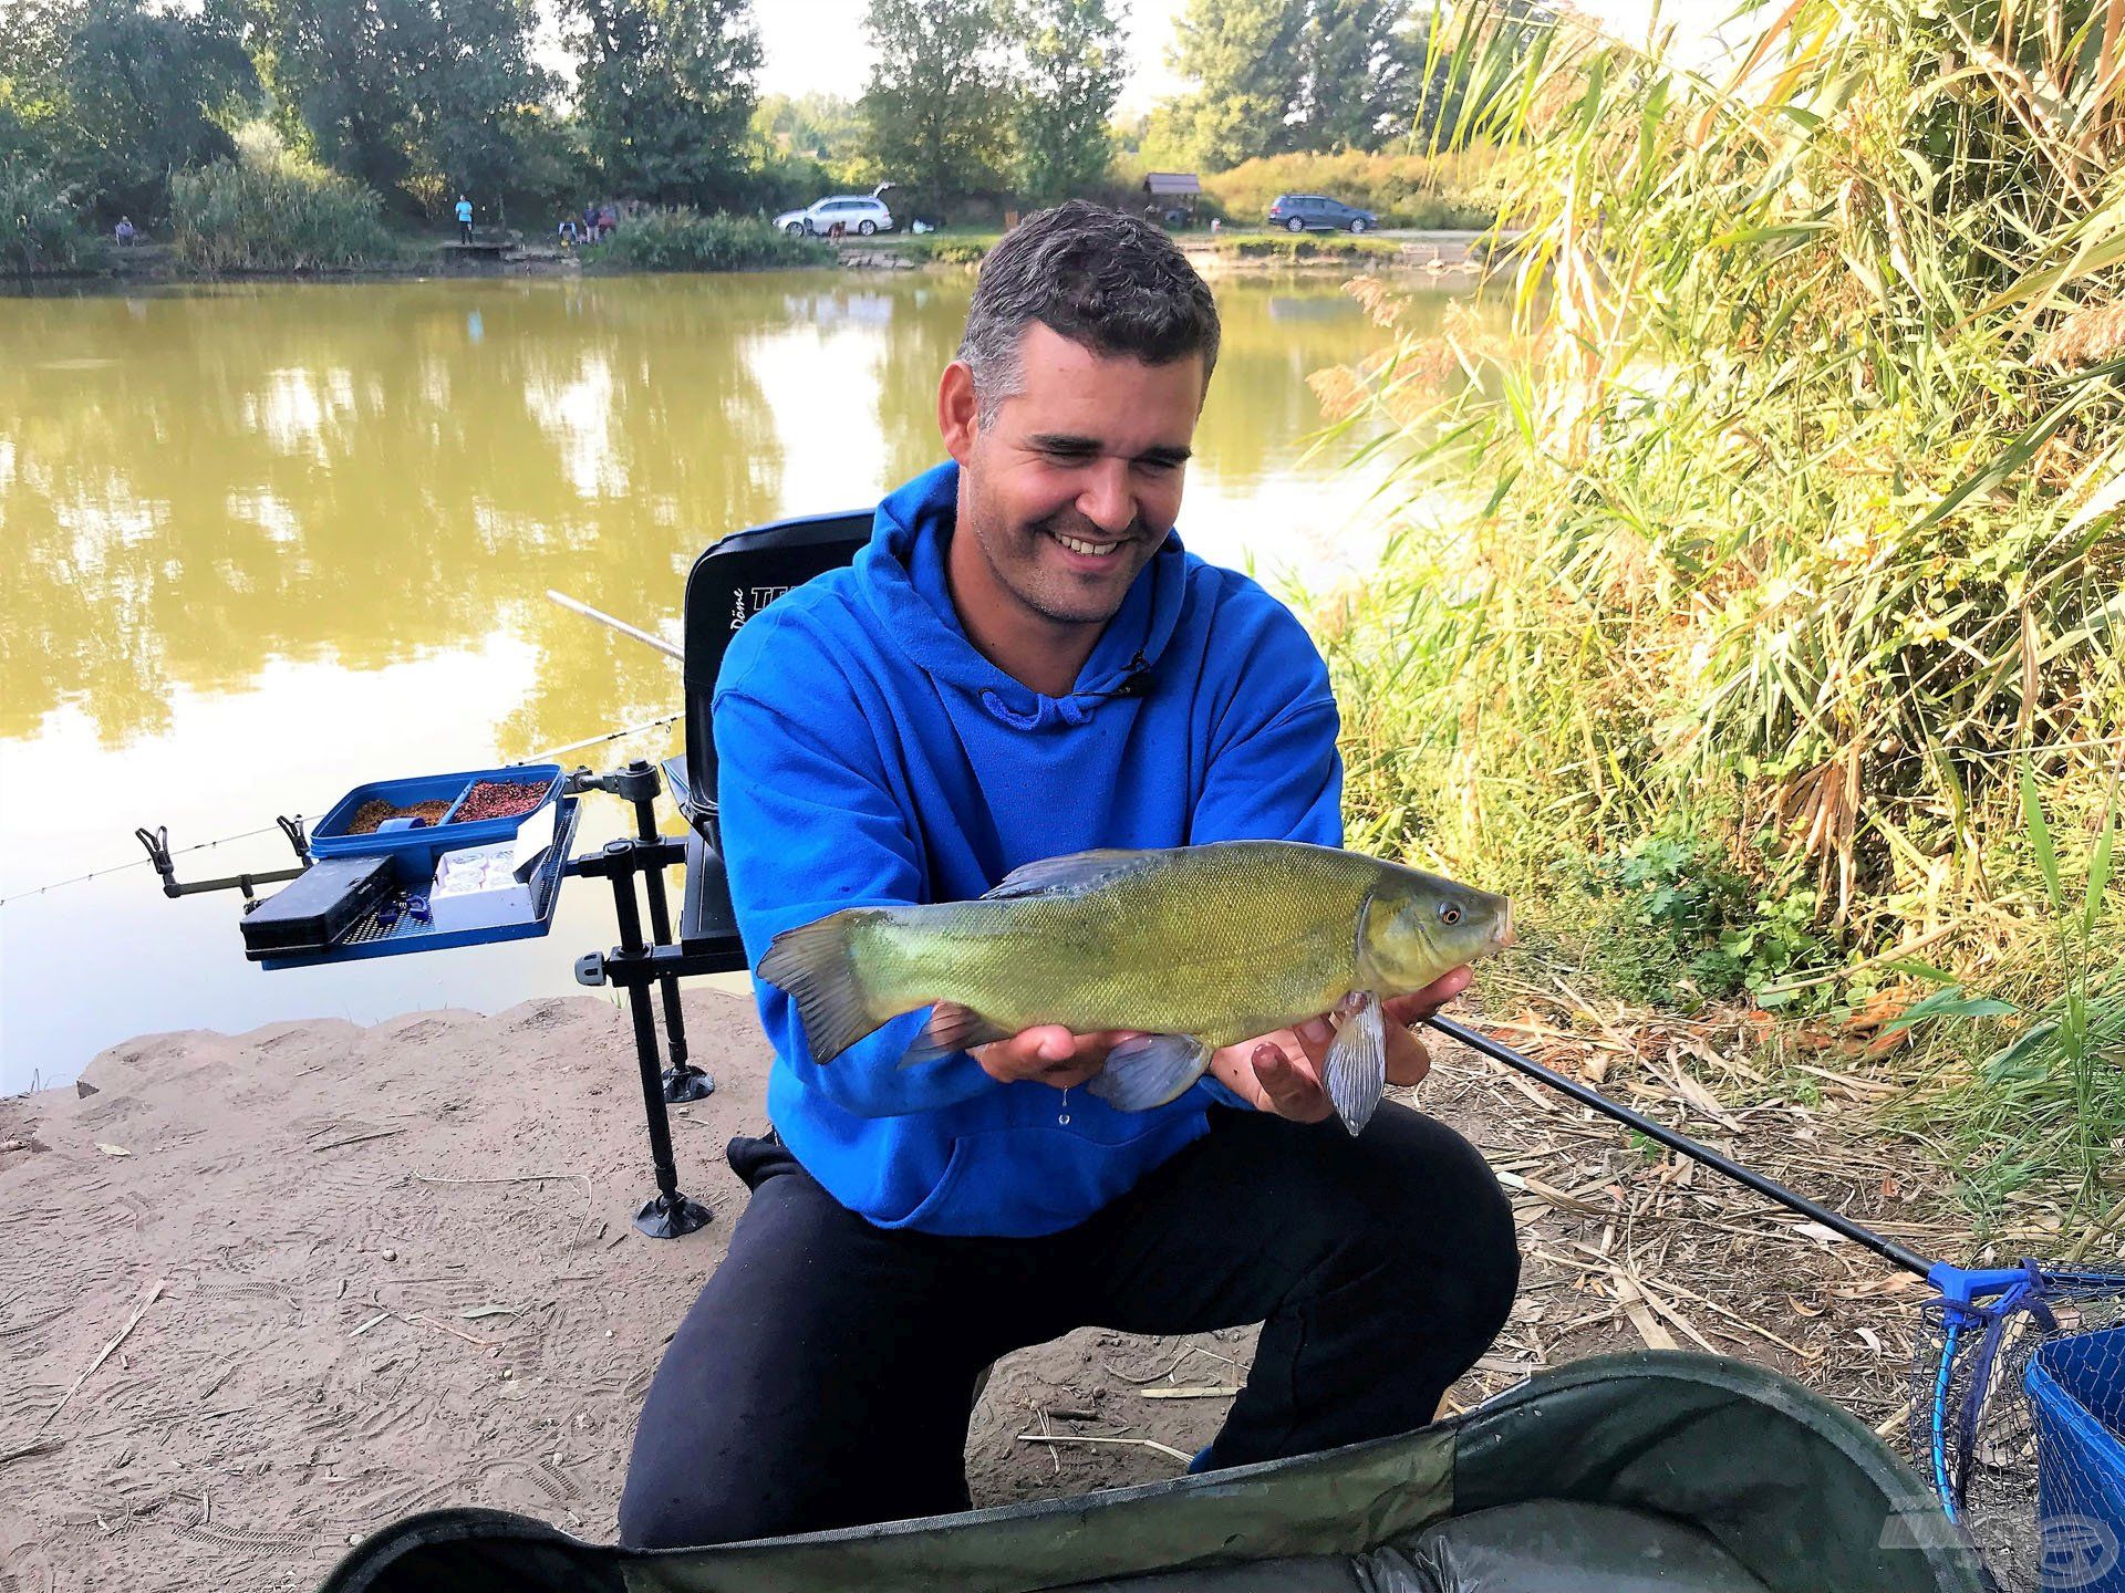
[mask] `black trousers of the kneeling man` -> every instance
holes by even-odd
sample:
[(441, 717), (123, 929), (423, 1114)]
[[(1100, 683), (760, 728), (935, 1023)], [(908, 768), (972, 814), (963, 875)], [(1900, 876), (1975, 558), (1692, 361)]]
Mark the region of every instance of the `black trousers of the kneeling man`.
[(1513, 1213), (1460, 1134), (1383, 1102), (1211, 1132), (1046, 1238), (944, 1238), (846, 1211), (776, 1141), (650, 1383), (620, 1497), (640, 1548), (965, 1510), (982, 1370), (1075, 1328), (1262, 1323), (1213, 1466), (1422, 1427), (1504, 1325)]

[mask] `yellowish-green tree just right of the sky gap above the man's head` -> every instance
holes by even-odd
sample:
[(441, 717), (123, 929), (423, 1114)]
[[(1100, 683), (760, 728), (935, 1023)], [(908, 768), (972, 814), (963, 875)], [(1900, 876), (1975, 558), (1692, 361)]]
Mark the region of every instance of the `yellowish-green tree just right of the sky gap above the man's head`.
[(1167, 106), (1164, 134), (1213, 170), (1294, 149), (1307, 0), (1188, 0), (1173, 70), (1198, 87)]

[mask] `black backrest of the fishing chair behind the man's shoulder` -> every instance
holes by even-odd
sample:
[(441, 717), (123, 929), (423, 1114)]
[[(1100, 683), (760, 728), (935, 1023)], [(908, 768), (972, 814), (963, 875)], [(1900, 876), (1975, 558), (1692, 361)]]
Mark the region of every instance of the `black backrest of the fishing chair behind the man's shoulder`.
[(716, 673), (737, 627), (793, 586), (839, 569), (871, 539), (871, 510), (810, 514), (733, 531), (693, 561), (686, 576), (686, 784), (688, 820), (716, 813), (716, 737), (710, 707)]

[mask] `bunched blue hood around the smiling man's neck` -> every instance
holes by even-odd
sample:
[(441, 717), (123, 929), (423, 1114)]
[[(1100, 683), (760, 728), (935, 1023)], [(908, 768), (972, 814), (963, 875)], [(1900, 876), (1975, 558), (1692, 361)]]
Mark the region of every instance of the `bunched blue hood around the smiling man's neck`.
[(946, 461), (878, 506), (871, 542), (854, 565), (880, 635), (933, 680), (967, 692), (1014, 731), (1056, 731), (1086, 724), (1103, 703), (1133, 695), (1133, 678), (1156, 669), (1186, 597), (1186, 552), (1177, 533), (1169, 531), (1137, 571), (1122, 607), (1077, 671), (1077, 688), (1069, 697), (1046, 697), (1001, 671), (967, 639), (946, 580), (956, 518), (958, 465)]

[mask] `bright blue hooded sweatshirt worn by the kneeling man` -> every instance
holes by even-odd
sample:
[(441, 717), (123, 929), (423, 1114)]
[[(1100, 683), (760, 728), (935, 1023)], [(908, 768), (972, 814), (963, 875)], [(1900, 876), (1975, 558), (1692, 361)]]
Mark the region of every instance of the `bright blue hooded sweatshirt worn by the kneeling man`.
[[(958, 467), (878, 506), (854, 565), (778, 599), (716, 682), (716, 801), (750, 966), (842, 907), (967, 901), (1086, 847), (1230, 839), (1341, 845), (1328, 671), (1290, 610), (1169, 535), (1071, 697), (967, 639), (946, 584)], [(1139, 663), (1141, 658), (1141, 663)], [(1130, 675), (1141, 692), (1114, 692)], [(924, 1011), (831, 1064), (754, 977), (776, 1047), (767, 1113), (835, 1200), (880, 1228), (1052, 1234), (1207, 1130), (1211, 1079), (1156, 1111), (999, 1083), (958, 1051), (901, 1070)]]

